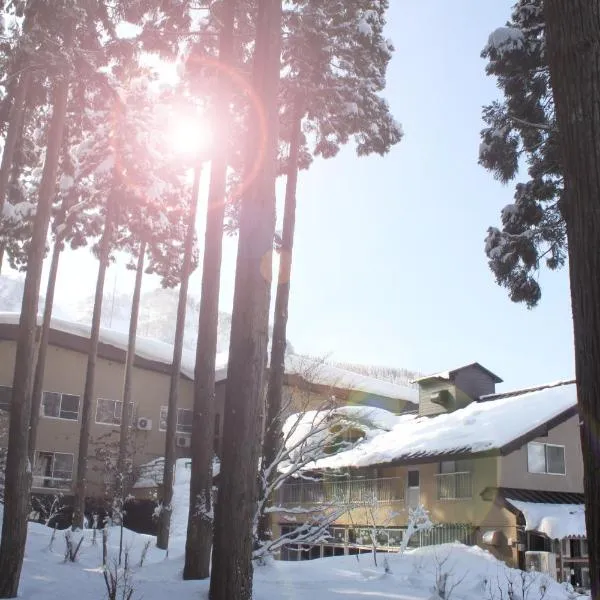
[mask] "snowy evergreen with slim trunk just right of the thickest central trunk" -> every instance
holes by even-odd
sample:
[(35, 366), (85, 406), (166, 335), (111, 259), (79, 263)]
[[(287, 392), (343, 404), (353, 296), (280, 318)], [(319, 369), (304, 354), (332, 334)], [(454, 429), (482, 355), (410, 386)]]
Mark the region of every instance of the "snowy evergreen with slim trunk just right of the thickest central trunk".
[[(267, 469), (279, 448), (281, 429), (298, 170), (313, 156), (335, 156), (349, 141), (355, 142), (361, 156), (385, 154), (402, 137), (387, 103), (378, 95), (385, 87), (393, 51), (383, 37), (387, 7), (387, 1), (381, 0), (345, 2), (343, 10), (335, 2), (310, 2), (287, 15), (289, 35), (283, 57), (288, 76), (282, 82), (281, 130), (287, 133), (283, 145), (289, 155), (283, 161), (287, 182), (261, 461), (263, 489), (276, 476)], [(305, 136), (303, 127), (312, 135)], [(315, 140), (313, 147), (307, 147), (307, 139)], [(269, 517), (263, 514), (260, 541), (268, 538), (268, 525)]]

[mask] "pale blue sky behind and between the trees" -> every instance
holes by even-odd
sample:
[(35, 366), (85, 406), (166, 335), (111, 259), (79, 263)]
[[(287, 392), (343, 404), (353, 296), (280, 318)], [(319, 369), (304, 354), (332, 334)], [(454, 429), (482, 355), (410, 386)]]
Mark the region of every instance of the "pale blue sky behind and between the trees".
[[(425, 373), (479, 361), (504, 389), (571, 377), (566, 270), (542, 273), (530, 311), (495, 284), (483, 253), (512, 186), (477, 165), (481, 106), (498, 93), (479, 54), (513, 2), (390, 3), (386, 97), (406, 135), (384, 158), (347, 148), (301, 176), (288, 338), (299, 352)], [(230, 311), (233, 240), (224, 252)], [(67, 258), (58, 297), (93, 294), (96, 268), (87, 251)], [(131, 289), (124, 269), (116, 280)], [(199, 293), (200, 273), (190, 288)]]

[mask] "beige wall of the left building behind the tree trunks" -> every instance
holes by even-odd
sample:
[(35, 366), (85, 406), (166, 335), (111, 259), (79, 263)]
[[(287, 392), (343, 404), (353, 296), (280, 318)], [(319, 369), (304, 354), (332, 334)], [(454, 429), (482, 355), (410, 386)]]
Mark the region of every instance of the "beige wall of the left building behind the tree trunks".
[[(15, 360), (15, 343), (0, 340), (0, 385), (12, 385)], [(37, 450), (65, 452), (74, 455), (74, 472), (76, 473), (77, 448), (79, 444), (79, 427), (81, 424), (81, 397), (85, 384), (87, 356), (81, 352), (67, 350), (57, 346), (48, 348), (44, 391), (62, 392), (80, 396), (79, 419), (53, 419), (40, 417)], [(116, 456), (120, 434), (118, 425), (96, 423), (96, 407), (98, 398), (120, 400), (124, 378), (124, 364), (98, 358), (96, 366), (95, 394), (92, 406), (92, 425), (90, 431), (89, 480), (90, 495), (101, 495), (104, 492), (105, 468), (96, 459), (101, 449), (108, 449), (111, 456)], [(148, 417), (152, 420), (151, 431), (131, 432), (131, 451), (135, 465), (140, 465), (158, 456), (164, 455), (165, 432), (159, 430), (160, 409), (165, 406), (169, 395), (170, 378), (166, 373), (134, 367), (133, 401), (134, 417)], [(217, 384), (217, 411), (223, 411), (225, 386)], [(180, 379), (180, 408), (192, 408), (193, 383), (185, 378)], [(183, 435), (183, 434), (178, 434)], [(2, 440), (0, 439), (0, 444)], [(180, 448), (181, 456), (189, 456), (189, 448)], [(34, 490), (35, 491), (35, 490)]]

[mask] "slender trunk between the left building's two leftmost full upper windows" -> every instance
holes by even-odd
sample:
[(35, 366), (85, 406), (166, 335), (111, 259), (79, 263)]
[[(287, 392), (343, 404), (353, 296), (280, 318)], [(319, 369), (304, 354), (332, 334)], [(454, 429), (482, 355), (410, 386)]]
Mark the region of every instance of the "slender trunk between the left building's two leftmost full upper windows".
[(73, 529), (83, 529), (90, 427), (96, 383), (96, 360), (98, 358), (98, 345), (100, 342), (100, 322), (102, 317), (102, 301), (104, 300), (104, 282), (106, 280), (106, 269), (108, 268), (113, 231), (116, 228), (116, 203), (117, 199), (113, 192), (110, 192), (106, 201), (104, 231), (102, 232), (102, 239), (100, 240), (98, 278), (96, 279), (96, 294), (94, 296), (94, 311), (92, 313), (88, 362), (85, 373), (85, 385), (83, 388), (83, 401), (81, 403), (81, 428), (79, 430), (79, 449), (77, 453), (77, 482), (75, 485), (75, 499), (73, 501)]

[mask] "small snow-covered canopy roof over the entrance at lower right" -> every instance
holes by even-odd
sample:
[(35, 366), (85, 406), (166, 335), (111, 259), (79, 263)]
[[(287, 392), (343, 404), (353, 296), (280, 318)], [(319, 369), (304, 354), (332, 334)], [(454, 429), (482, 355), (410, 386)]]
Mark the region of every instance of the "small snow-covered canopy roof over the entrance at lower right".
[(506, 498), (525, 517), (525, 529), (539, 531), (553, 540), (586, 537), (583, 504), (546, 504)]

